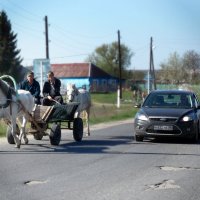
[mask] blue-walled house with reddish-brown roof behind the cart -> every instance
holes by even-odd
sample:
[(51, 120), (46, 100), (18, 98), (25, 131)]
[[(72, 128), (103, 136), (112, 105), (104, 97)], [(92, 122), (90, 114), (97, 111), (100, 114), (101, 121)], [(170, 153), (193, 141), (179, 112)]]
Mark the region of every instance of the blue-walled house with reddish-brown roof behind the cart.
[(51, 64), (51, 70), (62, 82), (65, 90), (68, 83), (76, 87), (86, 87), (91, 92), (111, 92), (117, 90), (118, 78), (106, 73), (93, 63)]

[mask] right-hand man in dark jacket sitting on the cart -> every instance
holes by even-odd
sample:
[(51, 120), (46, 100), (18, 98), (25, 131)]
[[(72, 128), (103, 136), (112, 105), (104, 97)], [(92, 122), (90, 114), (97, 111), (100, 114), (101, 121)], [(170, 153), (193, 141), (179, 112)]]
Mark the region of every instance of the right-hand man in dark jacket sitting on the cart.
[(54, 76), (54, 73), (52, 71), (48, 72), (47, 78), (48, 80), (44, 83), (42, 90), (42, 105), (52, 106), (56, 103), (62, 104), (63, 98), (60, 94), (61, 81)]

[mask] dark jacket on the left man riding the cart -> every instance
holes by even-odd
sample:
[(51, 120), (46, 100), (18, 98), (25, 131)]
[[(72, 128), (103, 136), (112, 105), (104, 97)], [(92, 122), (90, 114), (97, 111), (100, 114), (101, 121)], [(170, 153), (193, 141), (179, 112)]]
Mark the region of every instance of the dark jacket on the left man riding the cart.
[(19, 89), (29, 91), (35, 98), (40, 97), (40, 84), (33, 79), (33, 84), (29, 85), (28, 80), (23, 81), (19, 85)]

